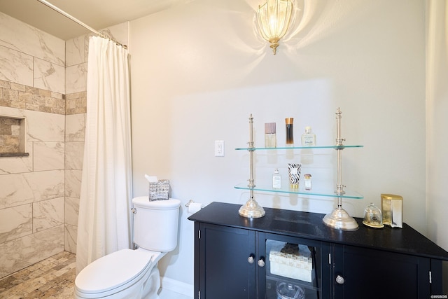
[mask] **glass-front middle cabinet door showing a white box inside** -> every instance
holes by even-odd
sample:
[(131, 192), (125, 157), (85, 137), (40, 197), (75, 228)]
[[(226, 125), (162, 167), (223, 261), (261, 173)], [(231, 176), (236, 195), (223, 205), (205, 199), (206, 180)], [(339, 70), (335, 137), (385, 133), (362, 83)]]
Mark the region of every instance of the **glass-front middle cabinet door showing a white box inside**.
[[(330, 244), (269, 233), (258, 234), (260, 297), (330, 298)], [(281, 297), (283, 295), (283, 297)]]

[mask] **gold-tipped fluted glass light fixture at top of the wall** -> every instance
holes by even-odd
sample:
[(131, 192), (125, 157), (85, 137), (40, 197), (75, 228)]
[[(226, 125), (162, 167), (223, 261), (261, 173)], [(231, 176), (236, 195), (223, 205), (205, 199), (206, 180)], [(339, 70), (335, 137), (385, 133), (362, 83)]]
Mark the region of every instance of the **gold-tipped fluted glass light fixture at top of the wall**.
[(258, 6), (257, 20), (259, 32), (263, 39), (271, 43), (272, 52), (276, 53), (280, 39), (288, 31), (293, 15), (293, 1), (267, 0)]

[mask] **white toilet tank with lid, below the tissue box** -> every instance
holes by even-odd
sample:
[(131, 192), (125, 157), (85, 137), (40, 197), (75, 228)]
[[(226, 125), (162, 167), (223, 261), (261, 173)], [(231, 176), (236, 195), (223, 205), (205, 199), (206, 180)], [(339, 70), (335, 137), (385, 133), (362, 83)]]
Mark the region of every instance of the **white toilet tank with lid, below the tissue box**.
[(150, 201), (148, 196), (135, 197), (134, 242), (139, 247), (168, 252), (177, 246), (180, 200)]

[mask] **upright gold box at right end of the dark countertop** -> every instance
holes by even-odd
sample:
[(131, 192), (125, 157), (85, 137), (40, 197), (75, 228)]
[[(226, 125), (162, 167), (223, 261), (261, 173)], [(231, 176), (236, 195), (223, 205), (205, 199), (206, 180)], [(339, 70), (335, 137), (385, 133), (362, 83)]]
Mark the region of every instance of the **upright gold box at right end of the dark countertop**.
[(394, 194), (381, 194), (381, 212), (383, 224), (392, 228), (403, 227), (403, 197)]

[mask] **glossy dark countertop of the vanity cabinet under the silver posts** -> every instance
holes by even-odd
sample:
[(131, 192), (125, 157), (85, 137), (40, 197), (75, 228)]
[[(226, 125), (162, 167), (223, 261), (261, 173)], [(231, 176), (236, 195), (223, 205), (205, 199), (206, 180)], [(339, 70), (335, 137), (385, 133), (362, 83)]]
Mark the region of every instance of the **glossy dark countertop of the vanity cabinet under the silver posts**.
[(245, 218), (238, 214), (240, 207), (241, 204), (212, 202), (204, 209), (188, 217), (188, 219), (234, 228), (246, 228), (261, 232), (272, 232), (280, 235), (448, 260), (447, 251), (406, 223), (403, 223), (403, 228), (391, 228), (387, 225), (384, 225), (384, 228), (369, 228), (363, 225), (363, 218), (355, 218), (359, 229), (356, 231), (344, 231), (326, 226), (322, 221), (325, 214), (263, 208), (266, 212), (264, 217)]

